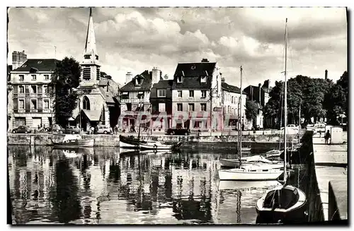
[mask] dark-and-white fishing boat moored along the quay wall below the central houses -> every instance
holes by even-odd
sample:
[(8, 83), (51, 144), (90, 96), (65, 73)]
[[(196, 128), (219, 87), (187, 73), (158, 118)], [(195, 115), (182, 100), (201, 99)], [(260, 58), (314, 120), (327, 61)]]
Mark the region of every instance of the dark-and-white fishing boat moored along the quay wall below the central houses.
[(167, 144), (159, 141), (140, 141), (139, 138), (120, 136), (119, 146), (125, 149), (139, 150), (176, 150), (182, 142)]

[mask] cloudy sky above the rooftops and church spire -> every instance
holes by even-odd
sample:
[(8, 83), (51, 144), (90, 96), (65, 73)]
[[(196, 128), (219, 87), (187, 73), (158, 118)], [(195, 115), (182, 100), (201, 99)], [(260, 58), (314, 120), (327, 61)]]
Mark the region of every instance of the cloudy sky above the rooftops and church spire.
[[(125, 83), (159, 67), (170, 77), (178, 62), (217, 61), (228, 83), (243, 87), (279, 80), (288, 18), (290, 76), (337, 80), (347, 70), (346, 8), (93, 8), (101, 70)], [(83, 59), (89, 8), (10, 8), (8, 62), (28, 58)]]

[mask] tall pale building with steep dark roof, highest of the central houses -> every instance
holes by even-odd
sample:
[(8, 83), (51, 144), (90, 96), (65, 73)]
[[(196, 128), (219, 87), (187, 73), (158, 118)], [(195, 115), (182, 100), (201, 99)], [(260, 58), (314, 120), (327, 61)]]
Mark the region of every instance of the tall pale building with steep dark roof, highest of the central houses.
[(222, 125), (221, 83), (216, 62), (178, 64), (172, 85), (172, 126), (208, 131), (212, 121), (211, 129), (217, 130)]

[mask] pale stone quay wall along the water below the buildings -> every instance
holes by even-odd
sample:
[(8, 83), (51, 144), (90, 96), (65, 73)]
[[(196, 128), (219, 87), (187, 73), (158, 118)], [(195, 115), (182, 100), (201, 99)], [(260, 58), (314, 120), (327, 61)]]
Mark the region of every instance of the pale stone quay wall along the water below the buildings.
[[(93, 138), (94, 146), (119, 146), (119, 135), (82, 135), (82, 137)], [(144, 135), (140, 137), (144, 141), (164, 141), (168, 143), (183, 141), (183, 146), (192, 148), (205, 145), (209, 148), (215, 148), (215, 146), (210, 146), (210, 143), (219, 143), (218, 147), (228, 148), (236, 146), (237, 143), (237, 136), (198, 136), (198, 134), (193, 134), (190, 136)], [(52, 141), (62, 141), (63, 139), (63, 134), (8, 134), (7, 143), (8, 145), (51, 146)], [(244, 143), (277, 143), (280, 139), (279, 135), (272, 134), (242, 136), (242, 142)], [(297, 140), (296, 135), (294, 135), (294, 140)]]

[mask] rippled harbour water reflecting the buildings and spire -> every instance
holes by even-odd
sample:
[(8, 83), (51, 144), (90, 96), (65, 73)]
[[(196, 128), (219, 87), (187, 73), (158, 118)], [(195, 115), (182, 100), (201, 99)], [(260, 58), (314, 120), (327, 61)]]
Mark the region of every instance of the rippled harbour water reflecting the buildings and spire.
[(254, 203), (274, 184), (219, 184), (219, 158), (230, 155), (233, 154), (120, 155), (117, 148), (10, 146), (13, 220), (80, 224), (255, 223)]

